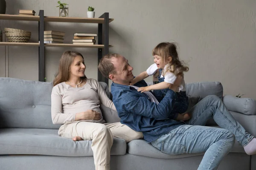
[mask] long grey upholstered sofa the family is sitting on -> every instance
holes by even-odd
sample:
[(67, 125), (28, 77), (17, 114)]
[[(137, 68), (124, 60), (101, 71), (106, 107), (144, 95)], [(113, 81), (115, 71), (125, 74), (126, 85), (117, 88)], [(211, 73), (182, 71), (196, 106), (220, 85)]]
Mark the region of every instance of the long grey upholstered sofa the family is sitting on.
[[(101, 82), (109, 94), (108, 87)], [(51, 120), (52, 83), (0, 78), (0, 170), (94, 170), (91, 141), (73, 142), (58, 136)], [(224, 96), (220, 82), (187, 84), (189, 107), (209, 94), (224, 100), (231, 114), (256, 136), (256, 101)], [(117, 113), (101, 106), (107, 122)], [(215, 126), (209, 120), (207, 125)], [(171, 156), (146, 143), (114, 139), (111, 170), (196, 170), (204, 153)], [(236, 142), (219, 170), (256, 170), (256, 156), (248, 156)]]

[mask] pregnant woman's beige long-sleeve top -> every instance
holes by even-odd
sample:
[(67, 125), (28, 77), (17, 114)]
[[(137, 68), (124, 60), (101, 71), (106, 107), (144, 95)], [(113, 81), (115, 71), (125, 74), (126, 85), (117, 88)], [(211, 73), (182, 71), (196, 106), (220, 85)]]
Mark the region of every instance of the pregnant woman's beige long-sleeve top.
[[(87, 79), (85, 85), (74, 88), (61, 82), (52, 88), (52, 123), (65, 124), (75, 122), (76, 113), (94, 110), (102, 113), (100, 103), (116, 111), (113, 102), (108, 98), (106, 92), (95, 79)], [(105, 123), (105, 120), (79, 120), (84, 122)], [(63, 130), (59, 129), (59, 134)]]

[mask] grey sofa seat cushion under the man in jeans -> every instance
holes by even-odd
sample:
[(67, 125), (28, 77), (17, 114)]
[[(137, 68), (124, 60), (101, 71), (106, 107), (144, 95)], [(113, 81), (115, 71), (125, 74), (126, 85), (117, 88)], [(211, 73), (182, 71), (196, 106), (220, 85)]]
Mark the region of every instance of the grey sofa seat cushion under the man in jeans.
[[(204, 153), (189, 153), (189, 154), (180, 154), (180, 155), (168, 155), (162, 153), (157, 148), (153, 147), (151, 144), (145, 142), (143, 139), (137, 139), (129, 142), (127, 144), (127, 152), (133, 155), (139, 156), (148, 156), (152, 158), (160, 159), (176, 159), (176, 158), (185, 158), (190, 156), (203, 155)], [(233, 153), (245, 153), (244, 148), (236, 141), (233, 149)]]

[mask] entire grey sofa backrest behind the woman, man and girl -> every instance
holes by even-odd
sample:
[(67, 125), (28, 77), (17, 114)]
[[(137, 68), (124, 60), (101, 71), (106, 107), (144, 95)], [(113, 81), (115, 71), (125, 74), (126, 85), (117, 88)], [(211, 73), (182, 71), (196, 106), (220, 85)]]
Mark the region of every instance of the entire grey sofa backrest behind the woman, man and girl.
[[(99, 82), (111, 96), (105, 82)], [(38, 82), (15, 78), (0, 78), (0, 128), (43, 128), (58, 129), (51, 119), (52, 82)], [(215, 94), (222, 99), (220, 82), (195, 82), (186, 85), (187, 95)], [(194, 103), (195, 104), (195, 103)], [(107, 122), (118, 122), (115, 111), (101, 106)]]

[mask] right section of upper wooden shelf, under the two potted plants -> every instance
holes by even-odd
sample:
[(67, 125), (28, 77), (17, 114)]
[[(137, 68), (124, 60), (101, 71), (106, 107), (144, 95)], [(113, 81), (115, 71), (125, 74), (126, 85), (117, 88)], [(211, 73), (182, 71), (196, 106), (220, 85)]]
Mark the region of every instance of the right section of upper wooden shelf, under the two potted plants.
[[(113, 21), (110, 18), (108, 23)], [(81, 18), (81, 17), (44, 17), (45, 22), (63, 22), (63, 23), (104, 23), (104, 18)]]

